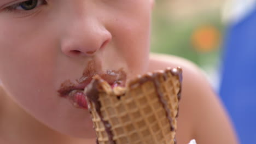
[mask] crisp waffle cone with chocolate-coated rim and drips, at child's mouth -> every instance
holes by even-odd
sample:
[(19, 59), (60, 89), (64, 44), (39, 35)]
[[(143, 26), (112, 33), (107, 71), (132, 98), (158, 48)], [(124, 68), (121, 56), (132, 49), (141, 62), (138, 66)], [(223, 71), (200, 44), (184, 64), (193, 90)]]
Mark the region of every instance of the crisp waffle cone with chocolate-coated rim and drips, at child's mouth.
[(95, 76), (85, 89), (97, 143), (176, 143), (182, 69), (137, 76), (126, 87), (112, 87)]

